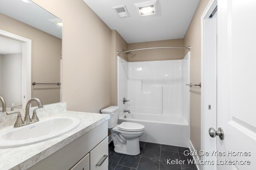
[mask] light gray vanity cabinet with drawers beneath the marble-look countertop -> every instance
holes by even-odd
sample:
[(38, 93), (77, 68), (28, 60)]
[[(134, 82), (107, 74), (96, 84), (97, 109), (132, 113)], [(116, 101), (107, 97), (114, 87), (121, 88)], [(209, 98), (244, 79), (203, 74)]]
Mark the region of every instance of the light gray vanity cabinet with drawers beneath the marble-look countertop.
[(98, 125), (91, 131), (29, 168), (29, 170), (107, 169), (108, 121)]

